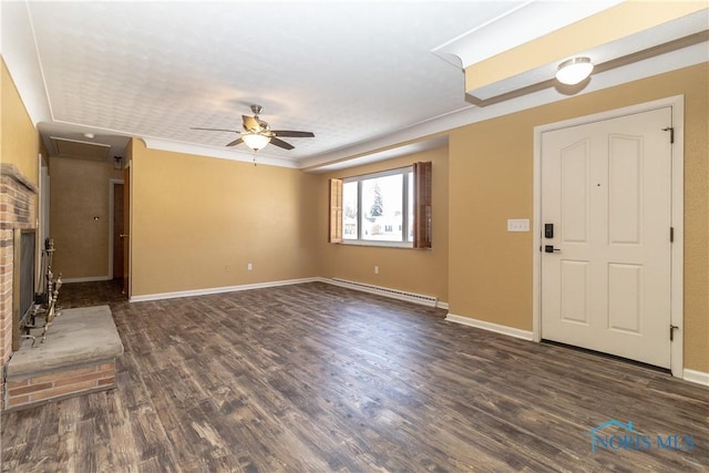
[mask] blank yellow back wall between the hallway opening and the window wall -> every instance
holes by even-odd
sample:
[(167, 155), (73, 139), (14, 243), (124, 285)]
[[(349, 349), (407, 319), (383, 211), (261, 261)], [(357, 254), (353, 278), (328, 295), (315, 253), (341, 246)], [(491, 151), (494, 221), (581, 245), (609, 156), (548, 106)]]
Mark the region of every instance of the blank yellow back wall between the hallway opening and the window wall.
[(131, 147), (132, 296), (318, 276), (315, 176)]

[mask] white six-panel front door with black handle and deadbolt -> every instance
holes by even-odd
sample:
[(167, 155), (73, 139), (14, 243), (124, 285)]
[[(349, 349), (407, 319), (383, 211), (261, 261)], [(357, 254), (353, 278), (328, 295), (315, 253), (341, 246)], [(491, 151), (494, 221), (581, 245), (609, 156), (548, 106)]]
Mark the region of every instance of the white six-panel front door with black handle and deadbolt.
[(542, 134), (543, 339), (670, 368), (671, 119)]

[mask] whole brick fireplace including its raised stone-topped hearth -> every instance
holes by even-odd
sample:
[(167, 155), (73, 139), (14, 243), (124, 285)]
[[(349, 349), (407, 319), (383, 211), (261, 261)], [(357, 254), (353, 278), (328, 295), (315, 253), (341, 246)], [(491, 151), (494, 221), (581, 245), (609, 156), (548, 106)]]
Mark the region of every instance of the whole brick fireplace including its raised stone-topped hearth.
[[(116, 357), (123, 353), (109, 306), (58, 312), (47, 340), (34, 348), (32, 340), (20, 339), (20, 319), (34, 307), (38, 282), (38, 197), (17, 166), (0, 164), (0, 409), (6, 411), (114, 389)], [(42, 328), (31, 330), (39, 336)]]

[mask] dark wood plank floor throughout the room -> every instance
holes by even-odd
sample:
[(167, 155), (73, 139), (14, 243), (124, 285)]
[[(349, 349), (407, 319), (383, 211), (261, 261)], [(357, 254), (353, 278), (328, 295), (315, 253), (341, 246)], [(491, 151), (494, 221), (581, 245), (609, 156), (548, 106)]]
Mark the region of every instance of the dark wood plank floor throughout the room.
[[(709, 389), (440, 309), (319, 282), (136, 304), (111, 282), (60, 294), (65, 308), (102, 304), (125, 347), (117, 389), (3, 413), (2, 471), (709, 465)], [(609, 420), (637, 433), (608, 426), (610, 446), (592, 452), (590, 429)]]

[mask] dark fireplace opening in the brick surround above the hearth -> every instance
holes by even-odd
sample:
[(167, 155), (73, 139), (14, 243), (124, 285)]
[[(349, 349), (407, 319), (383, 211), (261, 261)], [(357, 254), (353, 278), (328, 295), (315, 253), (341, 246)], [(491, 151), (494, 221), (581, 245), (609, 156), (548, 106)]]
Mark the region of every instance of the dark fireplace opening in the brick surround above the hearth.
[(37, 230), (16, 228), (13, 249), (12, 294), (19, 297), (12, 298), (12, 350), (17, 351), (20, 335), (34, 312)]

